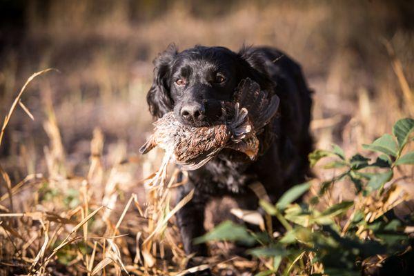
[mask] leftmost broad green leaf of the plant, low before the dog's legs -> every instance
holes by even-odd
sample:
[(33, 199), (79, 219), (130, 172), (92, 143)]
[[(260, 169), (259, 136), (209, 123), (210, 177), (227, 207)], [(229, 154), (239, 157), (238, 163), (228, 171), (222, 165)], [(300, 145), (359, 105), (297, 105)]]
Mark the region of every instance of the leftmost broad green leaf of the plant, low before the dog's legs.
[(238, 241), (246, 245), (255, 244), (255, 238), (248, 233), (246, 228), (235, 224), (233, 221), (221, 222), (221, 224), (213, 228), (213, 230), (210, 230), (210, 232), (194, 239), (195, 244), (208, 241)]

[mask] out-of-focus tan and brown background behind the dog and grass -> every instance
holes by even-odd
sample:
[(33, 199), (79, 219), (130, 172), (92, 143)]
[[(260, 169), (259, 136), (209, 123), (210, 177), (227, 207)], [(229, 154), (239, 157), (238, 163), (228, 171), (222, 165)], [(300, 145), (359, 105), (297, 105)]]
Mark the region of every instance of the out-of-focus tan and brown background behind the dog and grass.
[[(151, 129), (152, 59), (169, 43), (277, 47), (315, 90), (317, 146), (358, 144), (413, 115), (412, 1), (0, 1), (0, 114), (32, 72), (1, 147), (14, 179), (42, 170), (43, 122), (55, 112), (69, 170), (82, 170), (92, 130), (134, 155)], [(23, 159), (22, 159), (23, 158)]]

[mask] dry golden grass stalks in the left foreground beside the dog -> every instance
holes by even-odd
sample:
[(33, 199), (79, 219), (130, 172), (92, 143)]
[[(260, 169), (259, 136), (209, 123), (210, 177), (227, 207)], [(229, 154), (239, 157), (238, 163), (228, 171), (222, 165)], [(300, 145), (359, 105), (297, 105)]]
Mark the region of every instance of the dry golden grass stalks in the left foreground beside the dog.
[[(20, 103), (23, 108), (23, 103), (20, 100), (26, 86), (32, 79), (48, 71), (50, 69), (37, 72), (26, 81), (6, 116), (2, 133), (6, 130), (17, 103)], [(23, 109), (30, 114), (27, 108)], [(173, 239), (176, 235), (174, 229), (167, 227), (168, 221), (177, 210), (193, 197), (193, 193), (189, 193), (170, 210), (170, 189), (172, 186), (184, 184), (184, 182), (177, 183), (175, 181), (178, 171), (175, 170), (167, 184), (166, 170), (162, 170), (161, 179), (157, 181), (158, 185), (148, 188), (144, 210), (139, 204), (137, 195), (132, 193), (121, 215), (118, 214), (117, 223), (113, 224), (110, 218), (115, 217), (112, 213), (115, 213), (117, 206), (116, 189), (126, 179), (130, 181), (120, 167), (126, 166), (128, 162), (115, 164), (110, 170), (107, 181), (105, 181), (103, 175), (107, 175), (107, 172), (101, 165), (103, 137), (99, 130), (95, 130), (90, 145), (92, 155), (88, 175), (69, 178), (64, 170), (65, 156), (54, 116), (50, 116), (49, 121), (45, 123), (45, 128), (51, 139), (50, 148), (45, 149), (48, 177), (43, 177), (43, 175), (29, 175), (27, 177), (27, 181), (30, 180), (30, 186), (34, 187), (35, 194), (33, 202), (26, 202), (27, 210), (23, 213), (13, 212), (12, 199), (16, 194), (22, 193), (28, 183), (23, 181), (12, 187), (7, 172), (0, 168), (8, 188), (8, 194), (3, 196), (1, 201), (7, 199), (10, 201), (9, 208), (2, 206), (6, 213), (0, 214), (1, 250), (3, 251), (1, 264), (5, 268), (1, 270), (1, 273), (4, 275), (7, 273), (49, 275), (59, 271), (71, 275), (77, 273), (97, 275), (104, 270), (103, 274), (119, 275), (123, 270), (126, 274), (129, 272), (137, 275), (164, 275), (177, 274), (182, 271), (182, 266), (185, 263), (177, 263), (177, 267), (181, 267), (181, 269), (174, 272), (176, 268), (168, 267), (170, 264), (167, 266), (166, 261), (162, 261), (166, 254), (172, 254), (172, 261), (181, 262), (182, 259), (185, 259), (183, 250), (177, 246), (175, 239)], [(148, 179), (145, 180), (148, 182)], [(144, 181), (141, 181), (141, 184)], [(57, 187), (58, 185), (59, 187)], [(47, 193), (53, 193), (52, 190), (57, 193), (57, 197), (63, 196), (63, 200), (65, 197), (67, 199), (68, 195), (65, 195), (65, 190), (61, 190), (62, 185), (65, 186), (66, 191), (79, 192), (78, 198), (76, 198), (79, 202), (75, 206), (69, 204), (69, 208), (66, 210), (56, 210), (59, 205), (53, 204), (52, 210), (47, 210), (48, 206), (42, 206), (42, 209), (46, 210), (33, 210), (33, 207), (36, 208), (36, 204), (43, 203), (45, 200), (43, 197)], [(94, 185), (93, 188), (101, 186), (104, 189), (101, 199), (91, 193), (92, 185)], [(126, 252), (126, 248), (123, 248), (127, 244), (123, 238), (128, 234), (122, 234), (122, 232), (132, 230), (124, 226), (122, 222), (132, 202), (142, 219), (142, 224), (139, 225), (139, 231), (136, 233), (136, 256), (133, 260), (131, 256), (128, 256), (132, 262), (126, 262), (126, 257), (121, 252), (130, 255)], [(52, 202), (48, 202), (48, 204), (50, 203)], [(121, 226), (124, 226), (122, 230)], [(3, 237), (7, 237), (7, 239), (3, 240)], [(65, 262), (67, 263), (65, 264)], [(58, 263), (61, 263), (60, 267)]]

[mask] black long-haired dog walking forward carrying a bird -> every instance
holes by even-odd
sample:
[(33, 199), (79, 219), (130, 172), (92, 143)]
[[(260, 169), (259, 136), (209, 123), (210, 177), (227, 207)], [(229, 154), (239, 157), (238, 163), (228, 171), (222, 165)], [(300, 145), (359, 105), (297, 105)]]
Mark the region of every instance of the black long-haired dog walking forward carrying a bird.
[(186, 254), (207, 255), (206, 245), (192, 240), (204, 234), (204, 208), (208, 199), (223, 195), (237, 197), (241, 208), (257, 208), (257, 197), (248, 189), (260, 181), (275, 201), (309, 172), (308, 153), (311, 91), (301, 68), (273, 48), (242, 48), (238, 53), (223, 47), (195, 46), (178, 52), (169, 46), (154, 61), (154, 81), (147, 100), (156, 117), (174, 110), (184, 124), (210, 126), (221, 115), (221, 101), (230, 101), (237, 84), (245, 78), (280, 98), (279, 114), (259, 136), (257, 161), (244, 154), (223, 150), (204, 167), (189, 172), (189, 182), (179, 188), (181, 200), (195, 194), (177, 213)]

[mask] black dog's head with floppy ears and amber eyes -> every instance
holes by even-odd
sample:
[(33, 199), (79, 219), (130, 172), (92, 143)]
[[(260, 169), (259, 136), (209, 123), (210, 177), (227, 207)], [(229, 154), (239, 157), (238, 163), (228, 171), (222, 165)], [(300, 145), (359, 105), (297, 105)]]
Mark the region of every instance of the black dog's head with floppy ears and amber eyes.
[(230, 101), (237, 84), (250, 77), (270, 86), (259, 57), (224, 47), (195, 46), (178, 52), (169, 46), (154, 61), (154, 80), (147, 95), (152, 115), (174, 110), (183, 124), (210, 126), (221, 118), (221, 103)]

